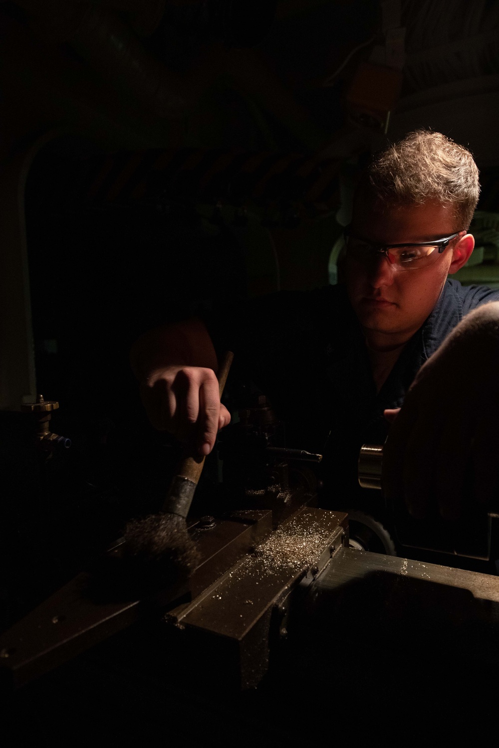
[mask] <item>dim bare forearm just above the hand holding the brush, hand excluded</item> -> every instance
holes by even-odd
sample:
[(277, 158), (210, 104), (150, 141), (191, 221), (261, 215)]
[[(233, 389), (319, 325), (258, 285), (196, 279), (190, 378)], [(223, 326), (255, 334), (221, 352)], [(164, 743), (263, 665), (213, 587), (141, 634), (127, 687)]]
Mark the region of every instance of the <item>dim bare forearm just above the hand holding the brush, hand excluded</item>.
[(143, 382), (169, 366), (218, 369), (212, 340), (198, 318), (163, 325), (139, 337), (130, 351), (130, 364)]

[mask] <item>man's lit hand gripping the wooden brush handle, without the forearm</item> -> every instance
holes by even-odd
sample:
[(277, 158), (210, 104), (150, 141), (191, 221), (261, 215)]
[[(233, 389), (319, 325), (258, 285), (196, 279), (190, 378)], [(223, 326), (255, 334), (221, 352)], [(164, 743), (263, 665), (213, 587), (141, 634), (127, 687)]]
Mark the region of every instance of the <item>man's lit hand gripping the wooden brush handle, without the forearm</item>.
[(217, 432), (230, 423), (212, 369), (165, 367), (141, 384), (140, 393), (153, 426), (180, 441), (192, 440), (201, 455), (211, 452)]

